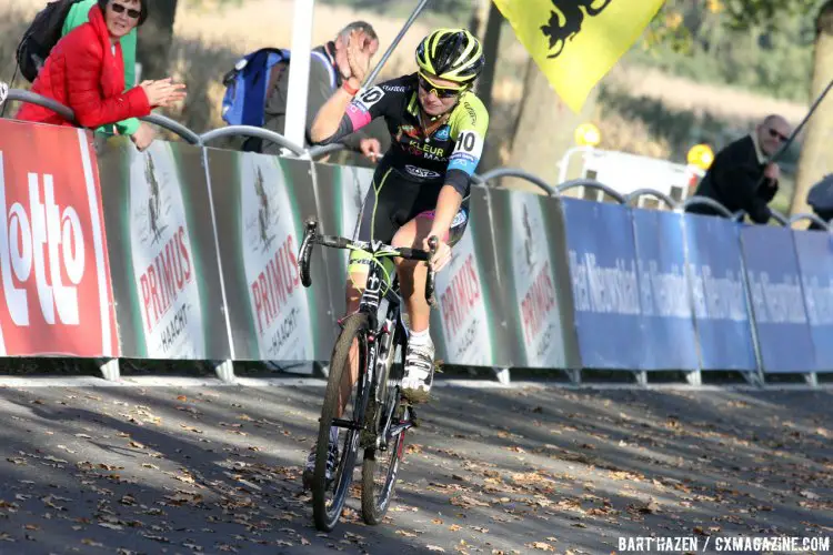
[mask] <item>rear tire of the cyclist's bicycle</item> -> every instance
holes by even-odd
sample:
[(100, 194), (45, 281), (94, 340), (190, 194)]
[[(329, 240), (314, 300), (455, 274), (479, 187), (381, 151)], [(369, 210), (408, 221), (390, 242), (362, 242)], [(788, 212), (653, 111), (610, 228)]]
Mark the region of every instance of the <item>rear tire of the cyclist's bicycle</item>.
[[(391, 366), (393, 365), (395, 351), (397, 343), (394, 342), (389, 360), (387, 361), (388, 372), (385, 373), (385, 375), (388, 377), (388, 381), (391, 380)], [(399, 386), (390, 383), (385, 385), (387, 387), (384, 387), (384, 395), (387, 396), (387, 400), (385, 403), (379, 407), (379, 410), (385, 410), (390, 406), (391, 403), (393, 403), (393, 417), (395, 418), (401, 414), (401, 420), (408, 420), (410, 417), (410, 411), (408, 405), (402, 405), (400, 402)], [(381, 487), (379, 495), (377, 495), (377, 486), (374, 480), (378, 464), (378, 452), (375, 448), (364, 450), (364, 461), (362, 462), (362, 519), (365, 524), (381, 524), (381, 522), (384, 519), (384, 515), (388, 513), (391, 500), (393, 498), (393, 490), (397, 485), (399, 464), (404, 453), (405, 432), (407, 431), (403, 430), (402, 432), (397, 434), (393, 442), (391, 442), (392, 444), (388, 446), (388, 453), (391, 454), (391, 461), (384, 485)]]

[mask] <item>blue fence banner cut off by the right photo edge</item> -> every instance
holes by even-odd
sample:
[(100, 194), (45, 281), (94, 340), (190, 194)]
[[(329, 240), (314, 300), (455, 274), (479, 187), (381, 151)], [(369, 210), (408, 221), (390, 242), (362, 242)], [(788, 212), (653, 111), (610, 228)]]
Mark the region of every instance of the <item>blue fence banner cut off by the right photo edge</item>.
[(833, 371), (833, 235), (793, 231), (795, 252), (815, 349), (815, 371)]

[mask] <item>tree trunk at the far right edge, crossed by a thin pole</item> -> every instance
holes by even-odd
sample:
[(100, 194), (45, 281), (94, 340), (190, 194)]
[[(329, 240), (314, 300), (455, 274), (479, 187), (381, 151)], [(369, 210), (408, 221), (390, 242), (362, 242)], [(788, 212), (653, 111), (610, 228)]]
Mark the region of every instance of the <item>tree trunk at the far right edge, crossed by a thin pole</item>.
[[(814, 50), (812, 101), (833, 80), (833, 0), (827, 0), (816, 18)], [(795, 192), (790, 213), (811, 212), (806, 203), (807, 191), (822, 178), (833, 172), (833, 94), (819, 104), (805, 127), (804, 144), (799, 159), (799, 172), (795, 178)]]

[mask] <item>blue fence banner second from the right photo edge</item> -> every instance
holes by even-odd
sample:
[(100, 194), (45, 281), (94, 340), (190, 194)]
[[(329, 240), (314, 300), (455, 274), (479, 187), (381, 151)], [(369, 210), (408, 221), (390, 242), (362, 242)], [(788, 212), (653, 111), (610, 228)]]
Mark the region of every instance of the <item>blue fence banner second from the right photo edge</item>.
[(812, 372), (815, 355), (793, 231), (747, 226), (741, 230), (741, 246), (763, 371)]

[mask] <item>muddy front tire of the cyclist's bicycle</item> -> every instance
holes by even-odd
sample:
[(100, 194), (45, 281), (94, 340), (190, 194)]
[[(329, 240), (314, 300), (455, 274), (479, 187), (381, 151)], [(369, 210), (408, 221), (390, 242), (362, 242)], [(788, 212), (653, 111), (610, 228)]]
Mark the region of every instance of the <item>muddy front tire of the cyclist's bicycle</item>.
[[(332, 357), (330, 359), (330, 375), (327, 381), (327, 393), (324, 394), (324, 402), (321, 407), (315, 451), (315, 471), (312, 480), (312, 514), (315, 527), (322, 532), (332, 532), (335, 528), (353, 481), (353, 468), (359, 455), (360, 430), (347, 431), (345, 448), (341, 453), (339, 465), (337, 466), (337, 478), (342, 476), (342, 480), (337, 480), (334, 484), (335, 492), (332, 505), (328, 511), (327, 457), (330, 442), (330, 426), (335, 416), (335, 407), (339, 402), (341, 376), (344, 372), (344, 366), (349, 363), (350, 347), (355, 339), (359, 340), (359, 380), (357, 381), (358, 393), (353, 403), (352, 421), (358, 424), (364, 422), (364, 411), (369, 398), (368, 369), (364, 367), (368, 363), (368, 326), (367, 314), (358, 313), (347, 317), (339, 339), (335, 341)], [(351, 445), (350, 450), (347, 448), (348, 445)]]

